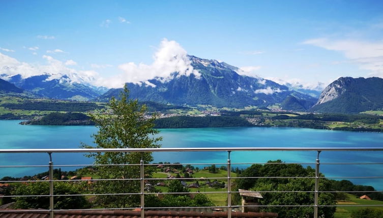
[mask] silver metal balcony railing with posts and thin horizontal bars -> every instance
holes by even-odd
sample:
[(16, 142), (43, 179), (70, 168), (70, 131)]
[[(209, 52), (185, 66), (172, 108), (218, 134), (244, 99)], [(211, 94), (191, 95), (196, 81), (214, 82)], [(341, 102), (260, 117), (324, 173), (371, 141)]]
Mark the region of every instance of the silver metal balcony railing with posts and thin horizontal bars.
[[(267, 152), (275, 152), (275, 151), (285, 151), (285, 152), (316, 152), (316, 159), (315, 162), (305, 162), (305, 163), (232, 163), (230, 159), (231, 152), (250, 152), (250, 151), (267, 151)], [(319, 180), (320, 178), (332, 178), (332, 179), (343, 179), (343, 178), (383, 178), (383, 175), (379, 176), (332, 176), (332, 177), (321, 177), (320, 176), (320, 165), (383, 165), (382, 162), (361, 162), (361, 163), (354, 163), (354, 162), (345, 162), (345, 163), (337, 163), (337, 162), (328, 162), (328, 163), (321, 163), (319, 155), (321, 152), (382, 152), (383, 148), (158, 148), (158, 149), (2, 149), (0, 150), (0, 154), (4, 153), (13, 153), (13, 154), (19, 154), (19, 153), (47, 153), (49, 155), (49, 163), (48, 165), (3, 165), (0, 166), (0, 168), (7, 168), (7, 167), (48, 167), (49, 172), (49, 180), (28, 180), (27, 182), (47, 182), (49, 183), (49, 195), (13, 195), (13, 196), (3, 196), (5, 197), (49, 197), (49, 209), (47, 210), (37, 210), (37, 211), (49, 211), (50, 217), (53, 218), (55, 211), (65, 211), (65, 210), (74, 210), (74, 209), (55, 209), (54, 208), (54, 197), (60, 197), (60, 196), (103, 196), (103, 195), (139, 195), (140, 196), (140, 207), (130, 207), (130, 208), (92, 208), (92, 209), (82, 209), (82, 210), (104, 210), (104, 209), (140, 209), (141, 211), (141, 218), (144, 218), (144, 211), (145, 209), (175, 209), (180, 207), (145, 207), (144, 205), (144, 199), (145, 195), (150, 195), (154, 193), (148, 193), (145, 192), (145, 180), (167, 180), (167, 179), (182, 179), (182, 180), (194, 180), (198, 178), (145, 178), (144, 175), (144, 169), (145, 166), (154, 166), (158, 164), (153, 163), (147, 163), (145, 164), (143, 160), (140, 160), (139, 163), (136, 164), (66, 164), (66, 165), (53, 165), (52, 160), (52, 154), (56, 153), (107, 153), (107, 152), (138, 152), (138, 153), (145, 153), (145, 152), (151, 152), (151, 153), (157, 153), (157, 152), (227, 152), (227, 161), (225, 163), (176, 163), (176, 164), (166, 164), (166, 165), (225, 165), (227, 169), (227, 176), (226, 177), (209, 177), (209, 179), (227, 179), (227, 191), (219, 191), (219, 192), (202, 192), (204, 194), (227, 194), (227, 205), (225, 206), (212, 206), (212, 207), (191, 207), (191, 208), (226, 208), (227, 209), (227, 216), (228, 218), (231, 218), (231, 211), (233, 208), (237, 207), (247, 207), (246, 205), (232, 205), (231, 200), (231, 194), (239, 193), (238, 191), (232, 191), (232, 181), (233, 179), (241, 179), (241, 178), (306, 178), (306, 179), (314, 179), (315, 185), (314, 185), (314, 191), (257, 191), (259, 193), (313, 193), (314, 194), (314, 203), (310, 205), (259, 205), (260, 207), (313, 207), (314, 208), (314, 218), (318, 217), (318, 208), (319, 207), (335, 207), (335, 206), (342, 206), (342, 207), (352, 207), (352, 206), (383, 206), (383, 205), (320, 205), (318, 203), (319, 194), (320, 193), (336, 193), (336, 192), (344, 192), (344, 193), (362, 193), (362, 192), (381, 192), (383, 193), (383, 190), (380, 191), (329, 191), (329, 190), (319, 190)], [(383, 157), (382, 157), (383, 160)], [(233, 165), (249, 165), (249, 164), (301, 164), (301, 165), (314, 165), (315, 166), (315, 175), (314, 176), (253, 176), (253, 177), (236, 177), (232, 176), (231, 169)], [(75, 181), (71, 179), (64, 179), (64, 180), (54, 180), (53, 179), (53, 167), (84, 167), (84, 166), (138, 166), (139, 167), (139, 178), (112, 178), (112, 179), (84, 179), (84, 181), (105, 181), (105, 180), (138, 180), (140, 184), (140, 190), (138, 193), (105, 193), (105, 194), (98, 194), (98, 193), (92, 193), (92, 194), (70, 194), (70, 195), (55, 195), (54, 189), (53, 189), (53, 183), (54, 182), (64, 182), (64, 181)], [(24, 183), (26, 181), (24, 180), (11, 180), (11, 181), (0, 181), (0, 183)], [(198, 194), (200, 192), (187, 192), (187, 194)], [(179, 192), (179, 193), (169, 193), (164, 192), (161, 194), (186, 194), (186, 192)], [(79, 209), (75, 209), (79, 210)], [(18, 209), (18, 212), (23, 211)], [(27, 212), (36, 211), (36, 210), (25, 210)]]

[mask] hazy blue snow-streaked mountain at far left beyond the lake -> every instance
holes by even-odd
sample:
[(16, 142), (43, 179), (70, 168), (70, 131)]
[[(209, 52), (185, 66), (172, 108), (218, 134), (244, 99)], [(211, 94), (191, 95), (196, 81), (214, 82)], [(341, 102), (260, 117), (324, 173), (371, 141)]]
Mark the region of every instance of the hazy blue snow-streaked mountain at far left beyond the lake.
[(100, 95), (89, 86), (71, 83), (66, 76), (53, 80), (47, 80), (48, 78), (47, 74), (26, 79), (16, 75), (9, 78), (8, 81), (32, 93), (49, 98), (89, 100)]

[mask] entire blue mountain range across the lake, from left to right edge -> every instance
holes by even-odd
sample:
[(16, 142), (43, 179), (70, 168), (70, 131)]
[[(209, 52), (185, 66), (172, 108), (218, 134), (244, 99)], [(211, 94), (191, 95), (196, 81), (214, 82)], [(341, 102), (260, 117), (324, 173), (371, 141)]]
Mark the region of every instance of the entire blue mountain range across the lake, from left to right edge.
[[(217, 60), (188, 56), (199, 75), (154, 78), (142, 83), (127, 83), (130, 96), (140, 101), (171, 105), (212, 105), (216, 107), (266, 107), (279, 105), (288, 111), (359, 113), (383, 110), (383, 79), (339, 78), (321, 93), (318, 84), (307, 88), (300, 84), (273, 82), (260, 77), (241, 75), (240, 68)], [(73, 76), (73, 75), (71, 75)], [(67, 100), (108, 101), (122, 89), (94, 87), (73, 82), (67, 75), (47, 72), (22, 78), (0, 75), (0, 93), (27, 93), (30, 96)], [(320, 95), (319, 95), (320, 93)]]

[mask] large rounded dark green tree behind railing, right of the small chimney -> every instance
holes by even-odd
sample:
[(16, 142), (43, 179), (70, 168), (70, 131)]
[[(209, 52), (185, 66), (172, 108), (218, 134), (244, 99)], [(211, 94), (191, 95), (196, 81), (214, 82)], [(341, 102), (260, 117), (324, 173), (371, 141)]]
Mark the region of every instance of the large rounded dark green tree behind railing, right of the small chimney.
[[(299, 164), (284, 164), (281, 160), (269, 161), (267, 164), (254, 164), (245, 169), (241, 177), (310, 177), (314, 176), (311, 167), (304, 168)], [(331, 181), (320, 179), (320, 190), (331, 190)], [(254, 191), (309, 191), (307, 192), (276, 192), (262, 193), (261, 205), (312, 205), (314, 203), (314, 179), (309, 178), (243, 178), (237, 183), (239, 189)], [(239, 195), (234, 196), (239, 200)], [(335, 205), (332, 193), (320, 193), (319, 204)], [(313, 207), (265, 207), (265, 211), (278, 212), (280, 217), (307, 217), (313, 215)], [(335, 207), (321, 207), (319, 215), (334, 217)]]

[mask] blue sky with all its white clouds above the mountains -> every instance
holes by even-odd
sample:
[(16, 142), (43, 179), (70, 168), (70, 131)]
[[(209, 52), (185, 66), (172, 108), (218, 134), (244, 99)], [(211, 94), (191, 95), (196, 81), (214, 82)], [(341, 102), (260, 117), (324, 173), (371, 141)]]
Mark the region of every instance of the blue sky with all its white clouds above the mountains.
[(0, 0), (0, 74), (108, 88), (198, 76), (187, 54), (315, 86), (383, 78), (383, 4), (363, 1)]

